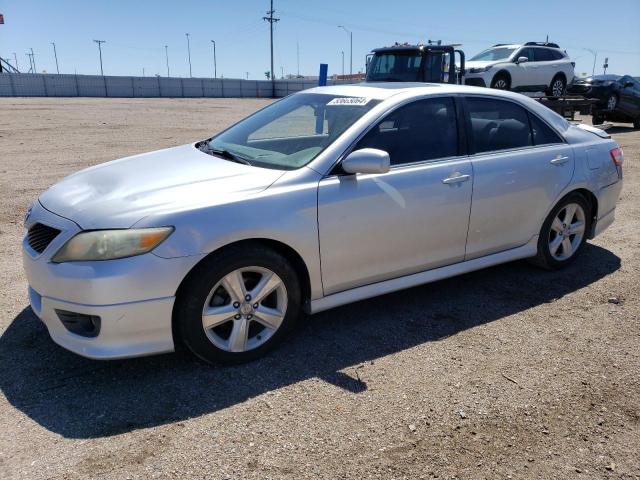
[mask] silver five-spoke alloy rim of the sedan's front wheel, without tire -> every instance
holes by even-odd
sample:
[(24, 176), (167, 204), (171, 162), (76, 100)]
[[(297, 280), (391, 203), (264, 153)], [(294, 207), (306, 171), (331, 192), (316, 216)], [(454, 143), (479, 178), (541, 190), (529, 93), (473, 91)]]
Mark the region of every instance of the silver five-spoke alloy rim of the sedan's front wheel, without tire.
[(225, 275), (211, 289), (202, 309), (202, 327), (216, 347), (246, 352), (267, 342), (287, 310), (287, 289), (267, 268), (251, 266)]

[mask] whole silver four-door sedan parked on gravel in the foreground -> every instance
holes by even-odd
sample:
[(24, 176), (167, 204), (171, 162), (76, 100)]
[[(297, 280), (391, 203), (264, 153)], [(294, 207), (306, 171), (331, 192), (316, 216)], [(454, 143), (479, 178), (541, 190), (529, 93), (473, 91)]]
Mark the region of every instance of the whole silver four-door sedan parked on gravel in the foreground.
[[(518, 94), (321, 87), (194, 144), (81, 171), (27, 213), (53, 340), (91, 358), (256, 358), (315, 313), (529, 258), (614, 219), (622, 151)], [(428, 308), (428, 305), (425, 305)]]

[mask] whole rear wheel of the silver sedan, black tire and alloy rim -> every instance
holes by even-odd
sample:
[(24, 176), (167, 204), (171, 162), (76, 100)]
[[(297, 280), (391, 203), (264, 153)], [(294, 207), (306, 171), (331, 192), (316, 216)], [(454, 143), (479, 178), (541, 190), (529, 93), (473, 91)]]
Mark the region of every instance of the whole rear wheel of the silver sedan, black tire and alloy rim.
[(538, 254), (531, 262), (548, 270), (566, 267), (579, 255), (587, 239), (591, 207), (579, 193), (571, 193), (554, 207), (538, 238)]

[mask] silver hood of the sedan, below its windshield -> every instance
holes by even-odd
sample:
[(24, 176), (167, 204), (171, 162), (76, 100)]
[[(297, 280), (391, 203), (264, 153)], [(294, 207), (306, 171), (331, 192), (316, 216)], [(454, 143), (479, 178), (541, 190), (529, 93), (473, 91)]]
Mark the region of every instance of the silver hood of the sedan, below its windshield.
[(39, 200), (85, 230), (129, 228), (148, 215), (256, 194), (283, 173), (214, 157), (189, 144), (82, 170)]

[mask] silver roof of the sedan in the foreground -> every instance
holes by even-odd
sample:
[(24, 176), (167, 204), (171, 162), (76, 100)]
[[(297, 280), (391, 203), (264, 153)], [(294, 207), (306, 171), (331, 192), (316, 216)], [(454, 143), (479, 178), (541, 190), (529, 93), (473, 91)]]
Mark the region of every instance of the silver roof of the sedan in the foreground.
[(367, 97), (382, 101), (389, 100), (395, 96), (402, 96), (403, 98), (419, 98), (442, 94), (481, 95), (484, 97), (505, 98), (520, 103), (522, 106), (544, 118), (561, 132), (564, 132), (569, 127), (569, 122), (567, 122), (567, 120), (551, 109), (545, 107), (540, 102), (520, 93), (493, 88), (472, 87), (469, 85), (456, 85), (450, 83), (362, 82), (349, 85), (315, 87), (298, 92), (296, 95), (300, 95), (302, 93)]

